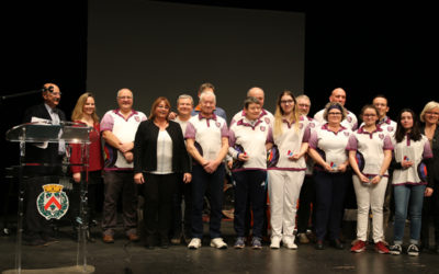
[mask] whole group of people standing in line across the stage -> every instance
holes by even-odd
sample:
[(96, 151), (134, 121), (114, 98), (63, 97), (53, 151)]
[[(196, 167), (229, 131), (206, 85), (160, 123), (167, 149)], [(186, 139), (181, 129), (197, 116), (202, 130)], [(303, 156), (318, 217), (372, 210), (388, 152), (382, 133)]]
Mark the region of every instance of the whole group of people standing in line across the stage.
[[(49, 90), (43, 92), (43, 96), (50, 95)], [(439, 103), (426, 105), (420, 128), (417, 115), (408, 109), (401, 111), (396, 122), (391, 121), (383, 95), (361, 110), (360, 124), (346, 110), (346, 91), (340, 88), (331, 92), (329, 103), (314, 118), (308, 116), (311, 100), (306, 95), (295, 98), (291, 91), (281, 92), (274, 115), (263, 109), (263, 90), (251, 88), (243, 110), (227, 126), (224, 110), (216, 106), (215, 88), (210, 83), (200, 87), (196, 106), (190, 95), (182, 94), (175, 113), (169, 100), (160, 96), (153, 103), (148, 117), (132, 109), (132, 91), (121, 89), (119, 107), (106, 112), (99, 122), (93, 95), (81, 95), (72, 121), (94, 127), (104, 144), (103, 155), (101, 140), (90, 145), (92, 172), (88, 176), (90, 190), (90, 179), (103, 171), (103, 241), (114, 242), (121, 195), (126, 237), (139, 240), (136, 207), (137, 193), (142, 192), (147, 248), (168, 248), (170, 242), (183, 240), (189, 249), (199, 249), (207, 198), (210, 246), (226, 249), (221, 220), (227, 169), (235, 187), (236, 249), (248, 243), (249, 226), (249, 244), (261, 249), (268, 224), (271, 249), (281, 244), (297, 249), (297, 241), (308, 241), (307, 229), (315, 235), (316, 249), (325, 249), (326, 240), (344, 249), (341, 224), (348, 186), (352, 183), (358, 208), (352, 252), (365, 250), (370, 212), (373, 242), (380, 253), (402, 253), (407, 216), (408, 254), (417, 255), (420, 244), (428, 244), (428, 230), (423, 232), (423, 239), (420, 235), (421, 228), (428, 228), (425, 220), (431, 213), (435, 240), (439, 241), (439, 202), (432, 191), (439, 181)], [(75, 182), (85, 176), (83, 171), (72, 169)], [(428, 206), (423, 213), (425, 201)], [(384, 238), (389, 218), (384, 213), (392, 204), (394, 240), (389, 246)]]

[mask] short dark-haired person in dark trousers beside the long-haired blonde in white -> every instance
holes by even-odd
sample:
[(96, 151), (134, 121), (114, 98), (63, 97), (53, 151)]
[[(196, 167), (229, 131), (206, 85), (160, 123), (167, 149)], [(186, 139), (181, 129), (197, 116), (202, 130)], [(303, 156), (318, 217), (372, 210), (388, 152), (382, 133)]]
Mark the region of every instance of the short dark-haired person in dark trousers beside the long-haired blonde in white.
[(249, 96), (244, 102), (245, 116), (229, 128), (228, 153), (234, 159), (232, 167), (235, 180), (235, 218), (237, 235), (235, 248), (245, 247), (245, 222), (247, 201), (254, 216), (254, 249), (261, 249), (263, 214), (266, 204), (267, 149), (272, 146), (271, 127), (259, 118), (261, 105)]

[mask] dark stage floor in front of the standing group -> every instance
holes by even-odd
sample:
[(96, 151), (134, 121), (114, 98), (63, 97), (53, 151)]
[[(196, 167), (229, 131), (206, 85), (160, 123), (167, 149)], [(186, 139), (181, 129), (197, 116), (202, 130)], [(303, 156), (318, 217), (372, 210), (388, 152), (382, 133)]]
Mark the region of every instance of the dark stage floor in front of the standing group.
[[(349, 225), (345, 230), (349, 229)], [(99, 228), (93, 228), (97, 241), (88, 243), (88, 264), (95, 273), (438, 273), (439, 254), (423, 252), (419, 256), (379, 254), (372, 246), (360, 254), (349, 252), (352, 239), (347, 239), (345, 250), (327, 247), (323, 251), (313, 244), (299, 244), (297, 250), (270, 250), (268, 243), (262, 250), (216, 250), (203, 239), (199, 250), (188, 250), (185, 246), (172, 246), (169, 249), (148, 250), (142, 242), (130, 243), (122, 230), (116, 235), (115, 243), (101, 241)], [(205, 227), (207, 231), (207, 227)], [(392, 227), (387, 228), (391, 238)], [(406, 228), (408, 231), (408, 227)], [(223, 221), (226, 242), (234, 243), (233, 221)], [(352, 233), (352, 228), (346, 235)], [(59, 232), (59, 242), (47, 247), (23, 247), (22, 267), (46, 269), (76, 265), (77, 243), (71, 231), (64, 227)], [(0, 271), (14, 267), (15, 237), (0, 238)]]

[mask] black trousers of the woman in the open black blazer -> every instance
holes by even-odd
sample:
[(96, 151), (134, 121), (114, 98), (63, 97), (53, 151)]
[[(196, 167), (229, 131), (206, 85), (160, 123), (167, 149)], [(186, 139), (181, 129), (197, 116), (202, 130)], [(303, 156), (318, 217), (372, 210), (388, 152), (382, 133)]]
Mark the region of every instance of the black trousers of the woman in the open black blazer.
[(172, 199), (179, 182), (177, 173), (144, 173), (144, 220), (147, 237), (168, 239), (172, 219)]

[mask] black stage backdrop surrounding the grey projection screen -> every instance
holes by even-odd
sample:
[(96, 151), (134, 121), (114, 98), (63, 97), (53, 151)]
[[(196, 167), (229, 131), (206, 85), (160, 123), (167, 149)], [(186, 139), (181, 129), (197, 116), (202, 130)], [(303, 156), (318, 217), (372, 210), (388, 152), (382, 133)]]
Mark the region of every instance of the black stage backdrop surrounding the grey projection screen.
[[(142, 4), (146, 1), (136, 2)], [(374, 94), (386, 94), (393, 118), (403, 107), (408, 106), (420, 112), (428, 101), (439, 100), (438, 84), (434, 81), (439, 48), (434, 39), (438, 16), (434, 14), (435, 9), (431, 7), (403, 5), (401, 2), (391, 8), (372, 3), (357, 7), (308, 7), (296, 1), (285, 1), (292, 2), (288, 4), (284, 1), (269, 1), (263, 4), (254, 1), (209, 1), (210, 7), (205, 7), (207, 1), (154, 2), (179, 2), (180, 5), (187, 3), (188, 8), (184, 9), (241, 9), (245, 14), (288, 16), (290, 12), (304, 13), (303, 91), (312, 99), (312, 113), (324, 106), (330, 91), (337, 87), (347, 90), (346, 106), (354, 113), (369, 103)], [(201, 3), (204, 5), (199, 5)], [(35, 90), (44, 82), (53, 81), (59, 84), (63, 92), (60, 107), (70, 115), (77, 98), (89, 88), (87, 76), (92, 72), (87, 70), (87, 37), (90, 38), (88, 7), (91, 4), (91, 1), (89, 3), (86, 0), (2, 2), (1, 96)], [(127, 14), (123, 14), (124, 16)], [(167, 26), (167, 22), (161, 24), (160, 27)], [(128, 37), (127, 43), (130, 41)], [(151, 76), (142, 79), (149, 77)], [(176, 83), (180, 80), (184, 82), (184, 79), (172, 79)], [(172, 91), (177, 94), (192, 91), (193, 94), (194, 89), (204, 80), (216, 83), (218, 92), (223, 90), (222, 83), (216, 81), (212, 72), (203, 79), (176, 85), (178, 90), (172, 88)], [(280, 85), (270, 89), (270, 92), (278, 93), (283, 88), (301, 88), (300, 80), (290, 80), (274, 79)], [(239, 100), (218, 98), (219, 105), (228, 106), (229, 102), (241, 102), (248, 88), (246, 85), (252, 84), (260, 83), (255, 81), (240, 85), (239, 94), (236, 94)], [(136, 92), (135, 82), (126, 83), (126, 87), (134, 87)], [(112, 90), (108, 91), (109, 96), (114, 99), (116, 89), (121, 87), (111, 88)], [(20, 124), (24, 110), (37, 102), (41, 102), (40, 94), (1, 100), (1, 134), (4, 136), (8, 128)], [(145, 111), (149, 112), (149, 107)], [(0, 182), (3, 182), (4, 168), (18, 163), (19, 150), (15, 145), (5, 141), (4, 137), (1, 138), (1, 148), (3, 157)]]

